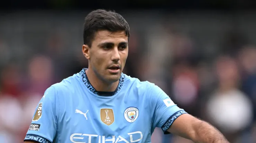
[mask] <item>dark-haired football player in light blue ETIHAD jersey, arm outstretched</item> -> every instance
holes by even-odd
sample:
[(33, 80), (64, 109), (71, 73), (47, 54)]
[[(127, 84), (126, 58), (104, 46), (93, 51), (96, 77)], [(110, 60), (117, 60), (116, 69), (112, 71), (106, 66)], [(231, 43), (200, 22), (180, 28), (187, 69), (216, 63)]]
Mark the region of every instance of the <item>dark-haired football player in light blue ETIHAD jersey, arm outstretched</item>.
[(150, 143), (156, 127), (199, 143), (228, 143), (156, 85), (122, 73), (129, 25), (118, 13), (96, 10), (84, 24), (82, 69), (49, 87), (39, 101), (25, 143)]

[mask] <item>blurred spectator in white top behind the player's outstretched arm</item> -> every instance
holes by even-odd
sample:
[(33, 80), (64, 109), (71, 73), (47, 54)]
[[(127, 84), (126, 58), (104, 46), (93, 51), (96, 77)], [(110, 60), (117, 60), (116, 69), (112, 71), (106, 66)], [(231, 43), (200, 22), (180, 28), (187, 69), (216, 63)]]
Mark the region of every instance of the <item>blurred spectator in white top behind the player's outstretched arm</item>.
[(234, 59), (219, 57), (216, 61), (216, 73), (219, 85), (206, 103), (206, 113), (230, 142), (234, 142), (234, 136), (252, 122), (252, 102), (238, 89), (240, 77)]

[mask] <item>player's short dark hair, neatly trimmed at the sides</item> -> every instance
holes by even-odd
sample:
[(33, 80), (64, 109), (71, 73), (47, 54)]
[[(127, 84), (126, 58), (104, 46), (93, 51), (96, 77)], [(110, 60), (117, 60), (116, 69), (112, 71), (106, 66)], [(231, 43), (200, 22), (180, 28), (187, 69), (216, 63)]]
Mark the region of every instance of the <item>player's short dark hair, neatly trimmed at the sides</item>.
[(85, 17), (83, 30), (84, 44), (91, 47), (95, 33), (99, 30), (108, 30), (110, 32), (125, 31), (128, 39), (130, 37), (129, 24), (115, 11), (98, 9), (90, 12)]

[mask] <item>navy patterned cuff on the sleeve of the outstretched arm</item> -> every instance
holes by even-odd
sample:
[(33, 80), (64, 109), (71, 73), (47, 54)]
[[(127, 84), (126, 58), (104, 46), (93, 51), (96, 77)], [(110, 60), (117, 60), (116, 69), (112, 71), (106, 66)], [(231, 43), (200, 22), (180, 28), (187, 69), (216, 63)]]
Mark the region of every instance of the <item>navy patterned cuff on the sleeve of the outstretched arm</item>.
[(182, 114), (186, 114), (184, 110), (180, 110), (172, 114), (167, 121), (162, 125), (161, 129), (163, 130), (164, 134), (170, 134), (167, 130), (170, 128), (172, 123)]

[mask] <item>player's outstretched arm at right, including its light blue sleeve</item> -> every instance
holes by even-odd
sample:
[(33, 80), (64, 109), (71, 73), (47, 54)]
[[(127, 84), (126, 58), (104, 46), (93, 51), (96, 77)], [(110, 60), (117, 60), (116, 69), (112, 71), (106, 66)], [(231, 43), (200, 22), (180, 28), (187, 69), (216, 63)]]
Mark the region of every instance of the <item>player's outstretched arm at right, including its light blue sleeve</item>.
[[(186, 113), (158, 86), (151, 85), (148, 97), (154, 129), (159, 127), (164, 134), (174, 133), (196, 143), (229, 143), (225, 137), (207, 122)], [(150, 110), (150, 111), (151, 111)]]

